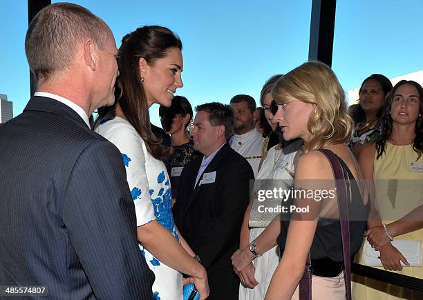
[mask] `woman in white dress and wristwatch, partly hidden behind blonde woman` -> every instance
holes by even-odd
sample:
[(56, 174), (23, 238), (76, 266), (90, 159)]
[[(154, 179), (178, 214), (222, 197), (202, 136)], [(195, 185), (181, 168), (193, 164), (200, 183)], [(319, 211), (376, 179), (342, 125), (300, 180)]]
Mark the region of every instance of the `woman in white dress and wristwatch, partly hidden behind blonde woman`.
[[(276, 121), (274, 121), (272, 106), (271, 90), (274, 83), (282, 75), (275, 75), (266, 81), (262, 90), (260, 102), (265, 109), (265, 117), (272, 127), (272, 130), (279, 131), (280, 128)], [(259, 173), (256, 175), (254, 190), (256, 193), (259, 190), (272, 190), (276, 186), (283, 189), (289, 189), (292, 183), (292, 174), (294, 173), (293, 161), (297, 150), (301, 147), (303, 141), (297, 140), (294, 143), (282, 148), (279, 143), (270, 148), (261, 161)], [(252, 202), (247, 207), (244, 215), (243, 226), (241, 228), (240, 249), (249, 250), (249, 243), (254, 241), (265, 228), (270, 224), (276, 214), (261, 213), (259, 206), (273, 207), (281, 203), (272, 201), (260, 202), (255, 194)], [(236, 252), (241, 254), (241, 251)], [(233, 259), (237, 256), (234, 255)], [(270, 284), (270, 279), (274, 270), (279, 264), (279, 249), (276, 246), (276, 236), (274, 237), (274, 245), (270, 250), (267, 250), (260, 257), (256, 257), (244, 270), (238, 272), (241, 284), (239, 286), (240, 300), (263, 300)]]

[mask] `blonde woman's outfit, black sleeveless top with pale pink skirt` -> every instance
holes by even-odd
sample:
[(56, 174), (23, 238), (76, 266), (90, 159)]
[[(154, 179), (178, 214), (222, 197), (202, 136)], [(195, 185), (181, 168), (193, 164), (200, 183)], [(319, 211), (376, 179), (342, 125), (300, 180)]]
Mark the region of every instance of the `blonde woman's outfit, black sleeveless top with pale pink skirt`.
[[(341, 158), (337, 157), (337, 159), (344, 170), (344, 179), (350, 183), (348, 217), (350, 219), (350, 254), (353, 255), (361, 246), (364, 231), (366, 230), (370, 203), (364, 205), (357, 181), (355, 180), (353, 174)], [(290, 199), (289, 203), (294, 203), (294, 199)], [(281, 234), (279, 234), (277, 240), (282, 253), (285, 249), (285, 242), (290, 224), (289, 219), (289, 215), (283, 218)], [(310, 255), (312, 261), (315, 259), (330, 259), (334, 262), (344, 261), (339, 219), (319, 217), (312, 246), (310, 248)], [(292, 299), (299, 299), (298, 287), (297, 290), (295, 290)], [(342, 271), (337, 277), (320, 277), (313, 275), (312, 299), (346, 299), (344, 271)]]

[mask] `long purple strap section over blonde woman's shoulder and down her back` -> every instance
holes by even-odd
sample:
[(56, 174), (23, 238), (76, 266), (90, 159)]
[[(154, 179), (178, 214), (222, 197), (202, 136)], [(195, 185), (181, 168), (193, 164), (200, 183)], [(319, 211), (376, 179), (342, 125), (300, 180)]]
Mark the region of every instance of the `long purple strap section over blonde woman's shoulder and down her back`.
[(351, 299), (351, 255), (350, 255), (350, 222), (348, 217), (348, 185), (345, 180), (344, 170), (337, 156), (328, 149), (319, 150), (328, 158), (336, 180), (339, 223), (341, 225), (342, 254), (344, 255), (344, 279), (346, 298)]

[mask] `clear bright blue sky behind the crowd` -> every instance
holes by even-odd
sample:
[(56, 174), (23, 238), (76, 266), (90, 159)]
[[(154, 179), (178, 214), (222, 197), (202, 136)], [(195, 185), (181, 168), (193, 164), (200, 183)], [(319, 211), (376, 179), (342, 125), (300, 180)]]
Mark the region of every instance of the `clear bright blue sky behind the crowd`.
[[(53, 1), (57, 2), (57, 1)], [(368, 75), (423, 70), (420, 0), (337, 1), (332, 68), (344, 90)], [(308, 59), (312, 0), (73, 1), (109, 24), (117, 46), (124, 34), (158, 24), (183, 43), (184, 88), (193, 106), (229, 103), (235, 94), (259, 94), (267, 78)], [(30, 97), (24, 51), (27, 0), (0, 1), (0, 93), (20, 114)], [(151, 110), (158, 121), (158, 106)]]

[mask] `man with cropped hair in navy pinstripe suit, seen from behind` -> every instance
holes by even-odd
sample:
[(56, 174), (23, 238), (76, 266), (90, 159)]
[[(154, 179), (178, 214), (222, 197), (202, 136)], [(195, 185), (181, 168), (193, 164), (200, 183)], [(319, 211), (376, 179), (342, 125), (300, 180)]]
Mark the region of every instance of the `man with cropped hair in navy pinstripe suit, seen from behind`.
[(48, 299), (153, 299), (122, 156), (88, 122), (115, 100), (111, 30), (56, 3), (32, 20), (25, 46), (39, 86), (0, 128), (0, 285), (45, 287)]

